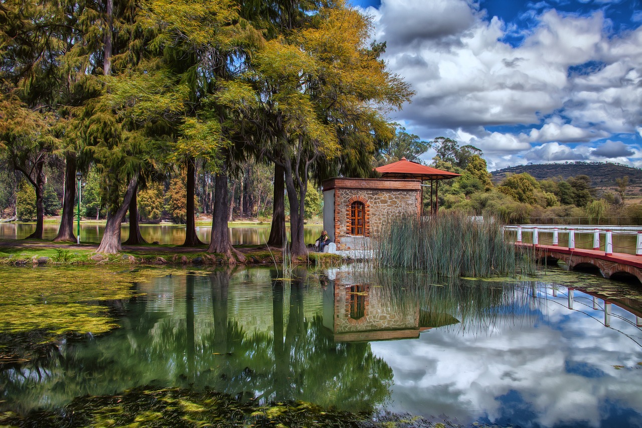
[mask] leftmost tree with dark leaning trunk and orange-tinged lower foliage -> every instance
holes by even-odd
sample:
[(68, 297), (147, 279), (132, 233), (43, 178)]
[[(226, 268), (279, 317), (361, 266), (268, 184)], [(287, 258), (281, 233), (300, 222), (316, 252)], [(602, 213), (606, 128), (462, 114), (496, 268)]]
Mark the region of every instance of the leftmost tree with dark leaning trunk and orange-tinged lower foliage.
[(42, 239), (44, 165), (60, 143), (55, 123), (56, 58), (61, 49), (49, 3), (0, 4), (0, 141), (2, 155), (22, 172), (36, 194), (35, 232)]

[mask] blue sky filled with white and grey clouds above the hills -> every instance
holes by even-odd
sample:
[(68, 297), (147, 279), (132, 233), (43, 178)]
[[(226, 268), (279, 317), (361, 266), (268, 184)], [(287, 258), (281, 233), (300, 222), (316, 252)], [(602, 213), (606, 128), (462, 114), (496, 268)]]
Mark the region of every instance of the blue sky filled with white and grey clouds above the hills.
[[(412, 85), (392, 115), (489, 170), (598, 161), (642, 167), (642, 0), (351, 0)], [(430, 161), (434, 151), (423, 159)]]

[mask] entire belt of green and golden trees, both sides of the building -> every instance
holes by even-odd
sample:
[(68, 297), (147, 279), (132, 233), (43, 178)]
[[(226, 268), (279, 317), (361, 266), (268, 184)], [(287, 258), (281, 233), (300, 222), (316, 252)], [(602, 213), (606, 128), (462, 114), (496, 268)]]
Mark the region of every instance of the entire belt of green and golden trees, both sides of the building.
[(272, 222), (268, 244), (300, 255), (324, 179), (374, 177), (429, 149), (462, 174), (440, 185), (441, 210), (642, 223), (626, 176), (600, 189), (587, 175), (494, 184), (478, 148), (390, 122), (413, 91), (381, 60), (370, 18), (341, 0), (7, 0), (0, 24), (0, 210), (36, 220), (30, 238), (59, 215), (55, 241), (76, 240), (80, 173), (81, 215), (107, 221), (100, 253), (121, 250), (125, 219), (129, 244), (143, 242), (139, 222), (164, 219), (202, 245), (205, 213), (207, 251), (231, 257), (227, 223), (254, 217)]

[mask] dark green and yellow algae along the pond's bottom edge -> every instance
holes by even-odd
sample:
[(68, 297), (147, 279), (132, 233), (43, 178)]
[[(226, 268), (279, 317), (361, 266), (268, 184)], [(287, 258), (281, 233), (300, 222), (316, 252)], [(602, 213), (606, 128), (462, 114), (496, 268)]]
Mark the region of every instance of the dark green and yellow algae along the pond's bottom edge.
[[(352, 413), (303, 401), (239, 402), (213, 390), (134, 388), (122, 395), (80, 397), (58, 411), (6, 412), (1, 426), (39, 427), (462, 427), (444, 419)], [(482, 425), (474, 424), (480, 427)], [(483, 425), (487, 426), (487, 425)], [(496, 427), (498, 425), (492, 425)]]

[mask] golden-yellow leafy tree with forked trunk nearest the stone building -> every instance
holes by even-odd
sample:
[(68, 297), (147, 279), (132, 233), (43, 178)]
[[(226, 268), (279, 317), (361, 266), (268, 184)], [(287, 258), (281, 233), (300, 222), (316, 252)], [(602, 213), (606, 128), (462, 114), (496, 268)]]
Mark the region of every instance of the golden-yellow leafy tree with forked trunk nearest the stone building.
[(239, 117), (265, 135), (252, 141), (257, 150), (284, 170), (293, 256), (306, 253), (304, 201), (311, 172), (339, 163), (339, 155), (351, 150), (361, 157), (374, 154), (377, 138), (394, 135), (386, 112), (412, 96), (367, 44), (371, 32), (369, 19), (354, 9), (322, 8), (308, 28), (267, 42), (252, 61), (245, 96), (229, 98)]

